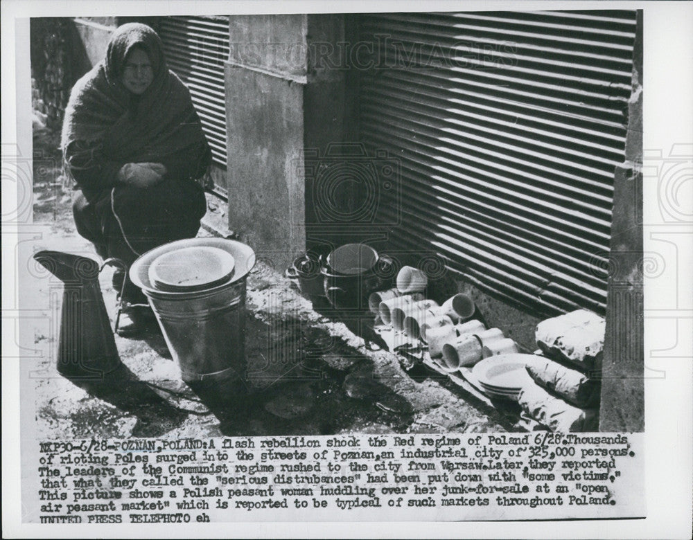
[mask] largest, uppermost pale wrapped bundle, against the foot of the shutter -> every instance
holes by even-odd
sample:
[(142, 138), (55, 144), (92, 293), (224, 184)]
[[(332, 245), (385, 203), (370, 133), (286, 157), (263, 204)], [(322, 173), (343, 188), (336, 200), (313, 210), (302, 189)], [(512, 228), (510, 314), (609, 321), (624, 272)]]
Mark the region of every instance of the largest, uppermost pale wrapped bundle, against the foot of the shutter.
[(583, 370), (595, 367), (604, 349), (606, 321), (586, 309), (549, 318), (536, 327), (536, 344), (550, 357), (559, 357)]

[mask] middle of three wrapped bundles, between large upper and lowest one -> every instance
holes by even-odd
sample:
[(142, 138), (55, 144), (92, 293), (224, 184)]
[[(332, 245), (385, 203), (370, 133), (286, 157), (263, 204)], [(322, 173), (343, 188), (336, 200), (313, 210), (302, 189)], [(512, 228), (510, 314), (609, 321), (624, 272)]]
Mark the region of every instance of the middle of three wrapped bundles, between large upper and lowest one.
[(537, 357), (536, 361), (527, 364), (527, 372), (536, 384), (574, 406), (589, 407), (599, 402), (599, 385), (579, 371)]

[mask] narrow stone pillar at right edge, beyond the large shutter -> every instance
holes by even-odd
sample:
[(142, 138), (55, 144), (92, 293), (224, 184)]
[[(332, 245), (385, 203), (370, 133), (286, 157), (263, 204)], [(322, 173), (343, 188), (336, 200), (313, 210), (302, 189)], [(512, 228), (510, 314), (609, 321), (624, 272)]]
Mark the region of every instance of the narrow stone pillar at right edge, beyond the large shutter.
[(600, 431), (644, 431), (642, 10), (633, 48), (625, 162), (614, 174)]

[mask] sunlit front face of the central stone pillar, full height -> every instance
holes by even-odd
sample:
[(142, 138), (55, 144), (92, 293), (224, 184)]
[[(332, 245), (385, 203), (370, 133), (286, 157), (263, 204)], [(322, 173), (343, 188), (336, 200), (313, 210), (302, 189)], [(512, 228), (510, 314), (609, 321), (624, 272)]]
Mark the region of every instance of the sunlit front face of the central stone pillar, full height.
[(229, 19), (229, 228), (275, 267), (305, 247), (306, 15)]

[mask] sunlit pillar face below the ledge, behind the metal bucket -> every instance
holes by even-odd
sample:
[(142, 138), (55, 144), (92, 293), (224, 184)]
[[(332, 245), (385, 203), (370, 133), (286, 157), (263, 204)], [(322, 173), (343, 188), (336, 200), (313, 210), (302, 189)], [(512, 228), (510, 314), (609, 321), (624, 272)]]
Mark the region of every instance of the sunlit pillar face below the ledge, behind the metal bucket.
[(304, 249), (303, 88), (226, 68), (229, 228), (275, 267)]

